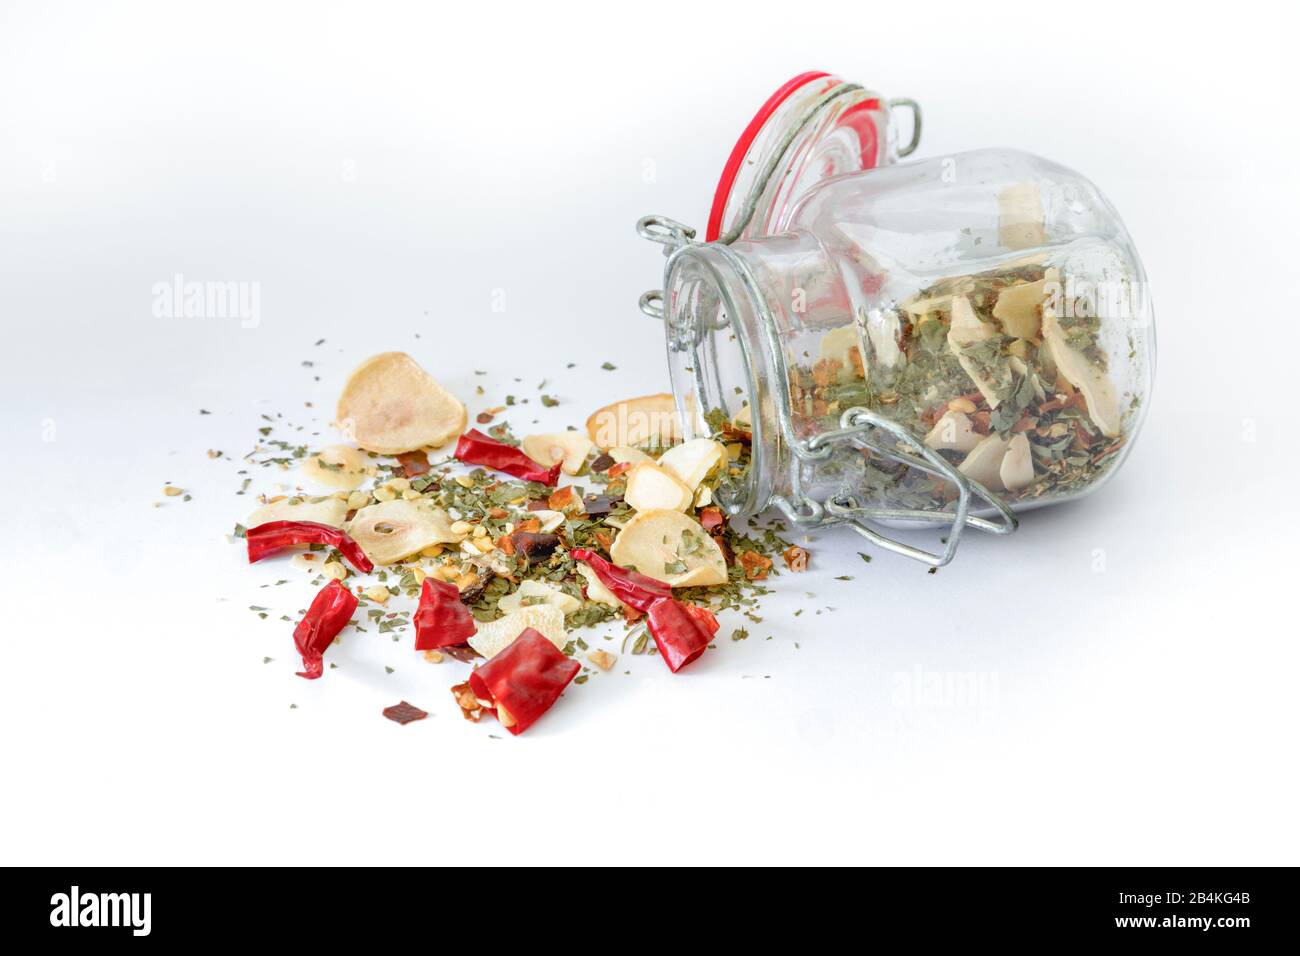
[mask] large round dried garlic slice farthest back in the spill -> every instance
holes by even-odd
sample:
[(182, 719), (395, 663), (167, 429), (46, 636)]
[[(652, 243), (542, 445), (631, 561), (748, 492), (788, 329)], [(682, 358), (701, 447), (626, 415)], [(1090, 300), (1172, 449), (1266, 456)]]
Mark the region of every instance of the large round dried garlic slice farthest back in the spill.
[(438, 447), (464, 431), (460, 401), (406, 352), (382, 352), (348, 376), (335, 424), (358, 445), (384, 455)]

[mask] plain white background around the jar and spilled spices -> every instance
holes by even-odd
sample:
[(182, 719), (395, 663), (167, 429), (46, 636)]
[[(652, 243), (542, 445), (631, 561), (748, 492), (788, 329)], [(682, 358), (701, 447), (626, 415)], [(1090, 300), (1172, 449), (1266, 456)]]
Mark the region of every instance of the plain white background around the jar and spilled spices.
[[(0, 9), (4, 862), (1297, 861), (1288, 5)], [(410, 637), (295, 678), (306, 578), (226, 544), (252, 502), (205, 450), (328, 440), (387, 349), (472, 411), (549, 378), (547, 428), (662, 390), (633, 222), (703, 226), (806, 69), (919, 99), (920, 156), (1112, 198), (1160, 336), (1123, 472), (933, 576), (822, 535), (748, 641), (625, 657), (517, 739)], [(260, 284), (260, 324), (153, 317), (176, 273)]]

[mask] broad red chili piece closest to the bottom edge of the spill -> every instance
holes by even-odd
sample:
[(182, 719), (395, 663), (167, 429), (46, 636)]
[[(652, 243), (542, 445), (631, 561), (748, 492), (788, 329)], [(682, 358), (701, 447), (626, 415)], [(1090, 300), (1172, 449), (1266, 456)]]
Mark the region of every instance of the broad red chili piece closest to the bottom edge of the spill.
[[(469, 675), (469, 689), (511, 734), (523, 734), (551, 709), (582, 665), (528, 627), (493, 659)], [(454, 691), (455, 692), (455, 691)], [(462, 695), (458, 695), (458, 701)], [(462, 709), (464, 704), (462, 704)], [(468, 713), (468, 710), (467, 710)]]

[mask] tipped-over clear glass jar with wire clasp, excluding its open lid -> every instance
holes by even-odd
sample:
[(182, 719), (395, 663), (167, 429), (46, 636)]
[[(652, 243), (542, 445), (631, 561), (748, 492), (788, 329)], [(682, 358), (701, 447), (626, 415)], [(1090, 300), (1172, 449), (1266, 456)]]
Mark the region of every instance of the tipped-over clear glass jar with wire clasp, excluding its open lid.
[[(1154, 371), (1147, 281), (1096, 186), (1010, 150), (835, 176), (694, 242), (671, 220), (662, 316), (686, 437), (750, 442), (718, 489), (948, 563), (970, 525), (1101, 486)], [(946, 525), (926, 550), (881, 528)]]

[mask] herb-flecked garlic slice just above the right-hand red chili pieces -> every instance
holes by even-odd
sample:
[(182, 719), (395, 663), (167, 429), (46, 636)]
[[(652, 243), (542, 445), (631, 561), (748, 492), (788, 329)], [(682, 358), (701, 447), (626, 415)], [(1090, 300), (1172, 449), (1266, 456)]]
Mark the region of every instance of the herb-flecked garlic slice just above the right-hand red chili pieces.
[(727, 583), (727, 559), (718, 542), (680, 511), (638, 512), (614, 538), (610, 558), (672, 588)]

